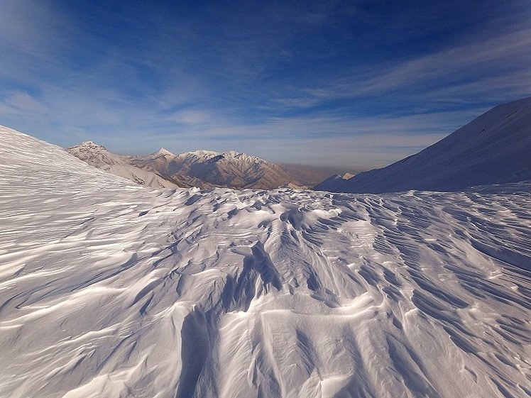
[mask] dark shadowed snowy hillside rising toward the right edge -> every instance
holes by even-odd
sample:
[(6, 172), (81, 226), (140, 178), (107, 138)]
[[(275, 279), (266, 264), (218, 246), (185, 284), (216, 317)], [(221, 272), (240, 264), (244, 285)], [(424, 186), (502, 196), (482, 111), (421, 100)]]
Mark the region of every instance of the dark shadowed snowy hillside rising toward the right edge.
[(383, 169), (314, 189), (331, 192), (456, 191), (531, 179), (531, 98), (496, 106), (447, 138)]

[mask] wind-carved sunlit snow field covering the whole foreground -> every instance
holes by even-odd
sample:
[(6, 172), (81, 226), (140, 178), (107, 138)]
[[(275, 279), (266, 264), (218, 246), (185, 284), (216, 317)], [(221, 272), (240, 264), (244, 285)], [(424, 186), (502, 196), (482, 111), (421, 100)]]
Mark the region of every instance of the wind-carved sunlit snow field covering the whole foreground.
[(0, 397), (531, 393), (530, 184), (156, 191), (7, 128), (0, 167)]

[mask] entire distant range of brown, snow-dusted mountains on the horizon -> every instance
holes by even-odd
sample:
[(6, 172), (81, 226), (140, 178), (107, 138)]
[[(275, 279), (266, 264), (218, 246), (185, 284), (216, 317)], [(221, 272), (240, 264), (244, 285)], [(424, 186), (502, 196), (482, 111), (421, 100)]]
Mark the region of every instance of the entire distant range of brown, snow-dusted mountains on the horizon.
[[(148, 156), (125, 156), (87, 141), (67, 151), (81, 160), (149, 187), (231, 187), (275, 189), (310, 187), (322, 172), (286, 167), (256, 156), (229, 151), (195, 150), (174, 155), (161, 148)], [(312, 183), (313, 182), (313, 183)]]

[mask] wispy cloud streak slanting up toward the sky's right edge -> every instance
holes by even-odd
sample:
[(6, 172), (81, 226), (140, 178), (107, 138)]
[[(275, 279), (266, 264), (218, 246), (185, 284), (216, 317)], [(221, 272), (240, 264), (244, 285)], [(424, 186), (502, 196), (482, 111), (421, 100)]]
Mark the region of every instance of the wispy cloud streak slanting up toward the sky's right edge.
[[(317, 106), (325, 101), (378, 96), (390, 92), (433, 99), (438, 93), (454, 99), (498, 92), (500, 97), (531, 92), (531, 28), (501, 37), (466, 43), (456, 48), (413, 57), (395, 65), (376, 65), (351, 72), (314, 87), (302, 87), (297, 98), (279, 98), (279, 104)], [(320, 84), (319, 84), (320, 83)], [(401, 92), (402, 91), (402, 92)], [(434, 95), (435, 94), (435, 95)]]

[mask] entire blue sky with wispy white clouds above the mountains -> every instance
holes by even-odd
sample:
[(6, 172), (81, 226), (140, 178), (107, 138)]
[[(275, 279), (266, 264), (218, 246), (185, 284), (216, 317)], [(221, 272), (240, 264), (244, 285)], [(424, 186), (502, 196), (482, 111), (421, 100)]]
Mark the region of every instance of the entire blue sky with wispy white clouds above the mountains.
[(0, 124), (359, 170), (531, 95), (531, 3), (0, 0)]

